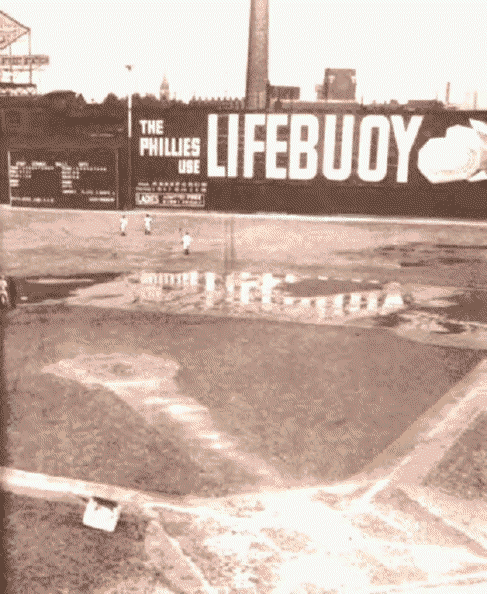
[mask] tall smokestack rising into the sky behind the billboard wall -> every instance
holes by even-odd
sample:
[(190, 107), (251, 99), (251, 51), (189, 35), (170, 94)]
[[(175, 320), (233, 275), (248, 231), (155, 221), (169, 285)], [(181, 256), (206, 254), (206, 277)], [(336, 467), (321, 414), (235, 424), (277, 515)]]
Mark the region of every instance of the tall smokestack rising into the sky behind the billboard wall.
[(245, 85), (246, 109), (264, 109), (269, 62), (269, 1), (251, 0), (249, 53)]

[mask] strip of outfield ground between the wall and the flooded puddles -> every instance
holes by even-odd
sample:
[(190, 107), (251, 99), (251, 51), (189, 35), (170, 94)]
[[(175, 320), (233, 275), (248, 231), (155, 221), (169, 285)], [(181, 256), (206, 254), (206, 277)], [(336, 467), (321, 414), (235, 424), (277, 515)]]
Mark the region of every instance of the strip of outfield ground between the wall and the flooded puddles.
[[(119, 234), (120, 213), (62, 212), (2, 208), (3, 268), (14, 276), (129, 272), (142, 268), (220, 271), (230, 258), (228, 217), (153, 212), (151, 236), (143, 234), (144, 212), (129, 213), (127, 237)], [(179, 230), (194, 238), (192, 254), (183, 258)], [(332, 273), (343, 268), (380, 280), (437, 282), (480, 278), (487, 282), (487, 250), (462, 254), (460, 265), (400, 268), (406, 246), (416, 260), (438, 245), (487, 246), (485, 227), (234, 218), (233, 266), (237, 269)], [(393, 246), (396, 250), (384, 252)], [(441, 248), (442, 255), (447, 249)], [(419, 253), (416, 252), (419, 250)], [(445, 254), (443, 254), (445, 255)], [(451, 256), (451, 254), (448, 254)], [(410, 258), (409, 258), (410, 259)], [(431, 259), (431, 258), (430, 258)]]

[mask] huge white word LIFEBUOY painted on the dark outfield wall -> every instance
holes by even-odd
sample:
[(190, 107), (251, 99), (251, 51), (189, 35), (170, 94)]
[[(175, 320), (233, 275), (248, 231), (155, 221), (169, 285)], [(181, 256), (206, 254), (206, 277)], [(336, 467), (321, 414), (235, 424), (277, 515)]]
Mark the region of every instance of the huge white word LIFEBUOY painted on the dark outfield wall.
[[(243, 150), (239, 152), (242, 117)], [(362, 118), (345, 114), (342, 116), (341, 141), (337, 139), (339, 117), (337, 114), (210, 114), (208, 177), (236, 177), (239, 166), (243, 165), (243, 176), (252, 178), (255, 155), (264, 153), (266, 179), (309, 180), (317, 176), (319, 169), (320, 174), (332, 181), (346, 181), (355, 175), (362, 181), (377, 183), (386, 178), (392, 165), (396, 181), (408, 181), (411, 150), (424, 116), (412, 116), (406, 124), (406, 119), (397, 114), (370, 114)], [(218, 161), (219, 118), (228, 119), (227, 151), (226, 155), (220, 153), (222, 161)], [(265, 129), (265, 142), (256, 140), (259, 126)], [(278, 129), (281, 127), (287, 129), (287, 139), (280, 138)], [(397, 147), (397, 158), (392, 163), (391, 135)], [(320, 138), (323, 138), (323, 144)], [(358, 157), (356, 163), (354, 154)], [(288, 158), (281, 159), (278, 167), (279, 155)]]

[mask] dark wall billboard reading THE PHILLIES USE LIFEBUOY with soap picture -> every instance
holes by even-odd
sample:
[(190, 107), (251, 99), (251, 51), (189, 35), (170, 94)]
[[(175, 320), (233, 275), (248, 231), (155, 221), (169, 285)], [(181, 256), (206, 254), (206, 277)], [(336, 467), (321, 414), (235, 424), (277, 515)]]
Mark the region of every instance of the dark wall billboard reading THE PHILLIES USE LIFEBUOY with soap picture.
[(339, 196), (334, 211), (359, 212), (367, 196), (364, 211), (378, 210), (382, 193), (393, 191), (397, 204), (384, 203), (384, 211), (406, 212), (426, 192), (432, 204), (456, 201), (461, 216), (461, 201), (478, 204), (487, 189), (487, 112), (166, 110), (135, 126), (137, 206), (231, 210), (234, 200), (262, 210), (258, 188), (266, 187), (272, 208), (288, 212), (285, 196), (299, 187), (303, 213), (312, 189), (313, 200), (321, 197), (311, 206), (323, 212)]

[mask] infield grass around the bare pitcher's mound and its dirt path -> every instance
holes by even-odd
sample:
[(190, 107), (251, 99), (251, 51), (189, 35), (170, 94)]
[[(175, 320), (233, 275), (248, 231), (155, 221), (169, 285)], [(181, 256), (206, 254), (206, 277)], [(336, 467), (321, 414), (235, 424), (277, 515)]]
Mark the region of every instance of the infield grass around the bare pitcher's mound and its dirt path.
[(298, 481), (359, 472), (486, 356), (386, 330), (29, 306), (6, 328), (8, 465), (173, 495), (224, 495), (253, 478), (202, 468), (112, 392), (43, 374), (79, 354), (176, 360), (179, 391), (220, 430)]

